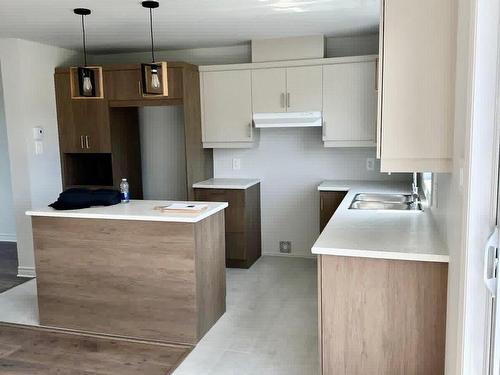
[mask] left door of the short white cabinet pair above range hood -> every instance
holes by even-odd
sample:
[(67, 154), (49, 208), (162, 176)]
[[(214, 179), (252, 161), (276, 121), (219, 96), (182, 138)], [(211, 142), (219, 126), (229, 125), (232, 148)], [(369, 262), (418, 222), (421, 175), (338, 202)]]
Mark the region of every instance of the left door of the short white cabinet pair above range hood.
[(286, 112), (286, 69), (252, 70), (254, 113)]

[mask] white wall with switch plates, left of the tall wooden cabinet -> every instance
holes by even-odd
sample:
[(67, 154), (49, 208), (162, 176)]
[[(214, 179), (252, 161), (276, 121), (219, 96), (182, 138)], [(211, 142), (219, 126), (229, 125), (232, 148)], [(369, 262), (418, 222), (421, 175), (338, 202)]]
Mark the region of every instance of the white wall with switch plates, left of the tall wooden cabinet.
[[(19, 39), (0, 39), (19, 272), (34, 271), (31, 220), (25, 211), (54, 201), (61, 191), (54, 68), (77, 54)], [(32, 128), (45, 130), (44, 153), (34, 154)]]

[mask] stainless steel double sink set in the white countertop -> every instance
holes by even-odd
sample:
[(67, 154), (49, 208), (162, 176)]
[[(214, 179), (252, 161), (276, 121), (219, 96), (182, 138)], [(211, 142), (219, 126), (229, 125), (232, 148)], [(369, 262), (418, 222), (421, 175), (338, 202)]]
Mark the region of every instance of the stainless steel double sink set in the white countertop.
[(418, 198), (411, 194), (359, 193), (352, 200), (350, 209), (423, 211)]

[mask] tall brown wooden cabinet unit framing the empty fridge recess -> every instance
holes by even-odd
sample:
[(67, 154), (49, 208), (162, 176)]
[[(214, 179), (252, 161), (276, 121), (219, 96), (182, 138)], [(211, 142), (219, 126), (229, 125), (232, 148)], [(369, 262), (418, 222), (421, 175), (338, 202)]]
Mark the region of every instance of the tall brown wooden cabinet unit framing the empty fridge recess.
[(201, 136), (198, 68), (168, 64), (168, 97), (143, 96), (140, 64), (103, 66), (104, 98), (72, 99), (69, 68), (57, 68), (56, 87), (63, 187), (118, 188), (127, 178), (133, 199), (142, 198), (138, 109), (183, 105), (188, 199), (192, 184), (213, 176), (212, 150)]

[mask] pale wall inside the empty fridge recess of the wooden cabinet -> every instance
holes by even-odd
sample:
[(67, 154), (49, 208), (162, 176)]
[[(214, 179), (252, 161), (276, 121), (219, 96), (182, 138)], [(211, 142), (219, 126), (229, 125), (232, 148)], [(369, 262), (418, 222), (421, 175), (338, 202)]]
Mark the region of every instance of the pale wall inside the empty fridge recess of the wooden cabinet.
[(139, 109), (144, 199), (186, 200), (182, 106)]

